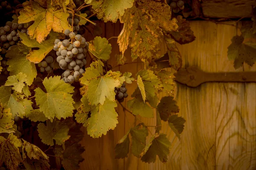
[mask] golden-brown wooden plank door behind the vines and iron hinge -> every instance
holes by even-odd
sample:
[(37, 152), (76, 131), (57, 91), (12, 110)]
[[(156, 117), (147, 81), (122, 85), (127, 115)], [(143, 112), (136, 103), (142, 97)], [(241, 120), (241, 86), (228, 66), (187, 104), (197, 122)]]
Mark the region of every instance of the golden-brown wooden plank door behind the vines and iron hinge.
[[(256, 67), (244, 65), (235, 70), (233, 61), (227, 59), (227, 46), (231, 38), (239, 34), (236, 27), (215, 24), (208, 21), (192, 21), (191, 28), (196, 40), (187, 45), (179, 45), (183, 56), (183, 67), (198, 66), (203, 71), (255, 71)], [(120, 24), (101, 23), (103, 35), (107, 39), (118, 36)], [(116, 38), (112, 44), (112, 59), (119, 54)], [(165, 48), (165, 47), (163, 47)], [(130, 53), (125, 56), (131, 62)], [(135, 61), (136, 62), (136, 61)], [(136, 74), (142, 64), (134, 63), (120, 66), (121, 72)], [(136, 83), (127, 85), (131, 95)], [(163, 94), (160, 94), (160, 97)], [(130, 97), (126, 99), (129, 100)], [(137, 157), (128, 155), (126, 159), (114, 159), (114, 147), (127, 130), (134, 126), (134, 116), (124, 113), (121, 107), (115, 130), (106, 136), (92, 139), (84, 130), (82, 144), (84, 162), (81, 170), (255, 170), (256, 169), (256, 83), (205, 83), (198, 88), (177, 84), (176, 100), (180, 116), (186, 119), (181, 141), (164, 123), (162, 132), (172, 142), (168, 162), (143, 163)], [(125, 102), (124, 102), (124, 105)], [(155, 125), (155, 119), (141, 118), (146, 125)], [(153, 131), (153, 127), (151, 127)]]

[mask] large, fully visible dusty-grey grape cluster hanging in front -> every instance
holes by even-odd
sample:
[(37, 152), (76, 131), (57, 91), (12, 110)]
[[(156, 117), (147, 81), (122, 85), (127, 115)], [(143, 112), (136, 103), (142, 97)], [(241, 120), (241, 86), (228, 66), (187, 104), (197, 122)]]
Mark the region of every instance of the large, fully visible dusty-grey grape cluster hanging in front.
[(89, 48), (89, 44), (85, 38), (80, 34), (70, 32), (70, 30), (64, 31), (65, 35), (69, 35), (70, 40), (54, 41), (53, 50), (56, 51), (56, 61), (59, 63), (64, 73), (62, 74), (63, 80), (66, 83), (73, 83), (79, 81), (79, 77), (84, 73), (84, 65), (86, 65), (86, 52)]

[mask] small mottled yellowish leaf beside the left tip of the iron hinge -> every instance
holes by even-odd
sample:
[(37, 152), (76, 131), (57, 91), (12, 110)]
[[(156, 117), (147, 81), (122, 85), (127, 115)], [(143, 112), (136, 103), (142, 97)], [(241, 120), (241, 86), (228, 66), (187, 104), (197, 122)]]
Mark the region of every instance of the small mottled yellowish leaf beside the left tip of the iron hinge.
[(168, 95), (172, 95), (175, 90), (175, 76), (170, 71), (162, 70), (157, 74), (160, 77), (160, 81), (163, 85), (163, 92)]

